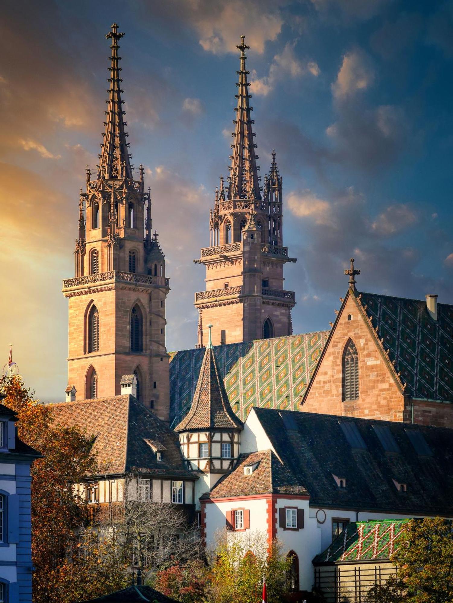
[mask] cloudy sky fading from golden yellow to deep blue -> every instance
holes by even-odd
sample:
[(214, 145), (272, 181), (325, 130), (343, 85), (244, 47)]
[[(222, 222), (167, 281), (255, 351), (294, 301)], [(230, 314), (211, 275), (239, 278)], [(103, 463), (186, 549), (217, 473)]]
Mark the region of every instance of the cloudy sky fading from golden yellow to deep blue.
[[(103, 130), (112, 22), (130, 150), (172, 291), (167, 349), (196, 343), (208, 212), (227, 173), (240, 34), (262, 175), (277, 150), (294, 332), (326, 329), (351, 256), (363, 291), (453, 303), (453, 2), (4, 0), (0, 356), (43, 400), (66, 387), (79, 189)], [(0, 364), (3, 364), (1, 362)]]

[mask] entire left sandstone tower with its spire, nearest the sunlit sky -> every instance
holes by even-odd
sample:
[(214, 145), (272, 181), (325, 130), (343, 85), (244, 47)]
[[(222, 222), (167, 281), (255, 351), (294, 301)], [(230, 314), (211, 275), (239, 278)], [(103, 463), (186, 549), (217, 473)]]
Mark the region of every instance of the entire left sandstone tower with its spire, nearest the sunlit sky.
[(114, 24), (106, 37), (112, 53), (100, 162), (95, 178), (86, 169), (76, 277), (63, 282), (69, 298), (68, 385), (76, 388), (76, 400), (117, 396), (121, 376), (135, 373), (138, 399), (167, 420), (169, 279), (157, 233), (152, 235), (144, 169), (135, 178), (130, 165), (118, 65), (123, 34)]

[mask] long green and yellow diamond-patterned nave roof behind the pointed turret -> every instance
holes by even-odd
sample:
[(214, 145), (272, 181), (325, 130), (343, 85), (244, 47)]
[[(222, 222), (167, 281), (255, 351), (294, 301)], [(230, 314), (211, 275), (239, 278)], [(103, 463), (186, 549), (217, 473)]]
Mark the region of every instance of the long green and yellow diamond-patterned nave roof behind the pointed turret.
[[(226, 393), (245, 421), (252, 406), (298, 410), (330, 331), (214, 347)], [(190, 408), (205, 350), (170, 353), (170, 421)]]

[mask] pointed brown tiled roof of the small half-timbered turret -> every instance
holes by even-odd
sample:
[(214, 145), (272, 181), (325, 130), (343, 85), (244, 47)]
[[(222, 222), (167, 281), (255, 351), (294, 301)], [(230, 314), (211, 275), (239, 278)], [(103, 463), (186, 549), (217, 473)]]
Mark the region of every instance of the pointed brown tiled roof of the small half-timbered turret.
[(190, 411), (175, 431), (199, 429), (243, 429), (226, 395), (213, 347), (207, 347)]

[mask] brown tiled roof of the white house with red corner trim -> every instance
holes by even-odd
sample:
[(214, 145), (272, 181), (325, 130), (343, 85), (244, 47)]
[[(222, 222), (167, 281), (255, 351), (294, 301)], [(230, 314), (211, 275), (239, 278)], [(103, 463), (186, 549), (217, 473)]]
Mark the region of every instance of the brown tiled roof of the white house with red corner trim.
[[(251, 475), (244, 469), (257, 465)], [(291, 468), (285, 467), (272, 450), (240, 455), (233, 473), (224, 476), (210, 493), (202, 498), (225, 498), (230, 496), (252, 496), (254, 494), (298, 494), (307, 495), (306, 489), (298, 484)]]

